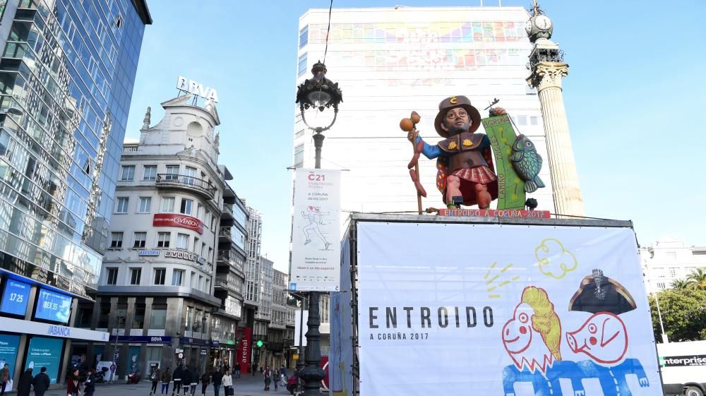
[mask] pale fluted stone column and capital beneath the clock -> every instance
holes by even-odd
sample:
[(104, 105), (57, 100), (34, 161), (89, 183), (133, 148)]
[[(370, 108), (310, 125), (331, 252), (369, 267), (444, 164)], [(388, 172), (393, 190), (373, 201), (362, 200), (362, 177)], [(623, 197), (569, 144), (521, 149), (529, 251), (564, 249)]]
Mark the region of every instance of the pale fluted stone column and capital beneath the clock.
[(568, 67), (568, 64), (561, 61), (538, 61), (534, 63), (532, 75), (527, 78), (527, 83), (537, 88), (542, 105), (556, 213), (583, 216), (583, 199), (561, 90), (561, 78), (568, 74)]

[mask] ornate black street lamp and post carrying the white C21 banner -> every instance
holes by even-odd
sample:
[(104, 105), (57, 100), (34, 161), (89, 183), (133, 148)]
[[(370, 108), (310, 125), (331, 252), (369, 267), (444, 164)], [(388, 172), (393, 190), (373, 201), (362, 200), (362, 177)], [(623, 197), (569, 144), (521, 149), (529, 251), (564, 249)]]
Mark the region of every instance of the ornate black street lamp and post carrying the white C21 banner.
[[(336, 122), (338, 114), (338, 104), (343, 101), (343, 94), (338, 88), (338, 83), (326, 78), (326, 66), (321, 61), (316, 62), (311, 68), (312, 78), (305, 80), (297, 88), (297, 103), (301, 119), (307, 128), (314, 131), (313, 144), (316, 150), (315, 168), (321, 169), (321, 148), (323, 147), (323, 131), (327, 131)], [(304, 110), (318, 109), (323, 112), (328, 107), (333, 107), (333, 120), (328, 126), (312, 127), (306, 122)], [(306, 331), (306, 367), (300, 371), (299, 376), (304, 383), (304, 395), (315, 396), (319, 394), (319, 383), (326, 373), (321, 368), (321, 332), (318, 327), (321, 325), (321, 313), (319, 312), (319, 301), (321, 292), (309, 292), (309, 318), (306, 320), (308, 330)], [(303, 329), (302, 329), (303, 330)], [(300, 343), (301, 345), (301, 343)], [(298, 364), (298, 363), (297, 363)]]

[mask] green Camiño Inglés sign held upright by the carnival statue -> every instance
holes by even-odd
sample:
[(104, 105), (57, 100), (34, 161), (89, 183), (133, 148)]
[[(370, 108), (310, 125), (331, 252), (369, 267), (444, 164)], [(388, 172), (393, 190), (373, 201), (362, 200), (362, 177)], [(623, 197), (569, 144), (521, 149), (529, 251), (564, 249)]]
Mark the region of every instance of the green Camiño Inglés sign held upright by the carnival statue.
[(510, 116), (494, 116), (481, 120), (495, 156), (498, 175), (498, 209), (525, 208), (525, 181), (515, 172), (510, 162), (513, 143), (517, 140)]

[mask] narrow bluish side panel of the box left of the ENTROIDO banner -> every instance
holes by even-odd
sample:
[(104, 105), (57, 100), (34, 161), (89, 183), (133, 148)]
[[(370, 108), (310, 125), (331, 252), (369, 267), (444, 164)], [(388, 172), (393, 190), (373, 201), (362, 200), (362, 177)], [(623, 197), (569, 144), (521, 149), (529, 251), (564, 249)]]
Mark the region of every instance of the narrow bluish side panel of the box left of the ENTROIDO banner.
[(328, 354), (328, 388), (331, 396), (353, 395), (353, 344), (352, 327), (348, 325), (352, 318), (351, 276), (350, 276), (350, 240), (341, 242), (341, 290), (331, 293), (331, 349)]

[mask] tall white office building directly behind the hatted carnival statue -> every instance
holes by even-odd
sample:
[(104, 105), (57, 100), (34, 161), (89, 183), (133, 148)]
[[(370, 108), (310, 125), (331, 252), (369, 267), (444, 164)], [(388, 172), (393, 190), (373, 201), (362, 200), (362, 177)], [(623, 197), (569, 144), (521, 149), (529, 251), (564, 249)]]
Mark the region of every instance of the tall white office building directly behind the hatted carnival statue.
[[(400, 119), (418, 112), (421, 137), (435, 144), (441, 140), (433, 127), (439, 102), (465, 95), (482, 117), (498, 98), (497, 106), (508, 111), (516, 132), (537, 145), (545, 160), (539, 175), (546, 188), (530, 196), (537, 198), (537, 209), (554, 212), (542, 112), (537, 92), (525, 80), (532, 44), (524, 8), (333, 9), (327, 51), (328, 11), (312, 9), (299, 19), (297, 84), (311, 78), (313, 64), (325, 61), (327, 78), (342, 89), (337, 120), (324, 133), (321, 163), (349, 171), (342, 173), (343, 210), (416, 212), (417, 193), (407, 170), (412, 145), (400, 130)], [(312, 126), (326, 126), (333, 116), (309, 112), (306, 121)], [(293, 164), (313, 168), (312, 131), (299, 107), (295, 114)], [(422, 157), (419, 168), (428, 193), (422, 207), (444, 207), (436, 189), (436, 161)]]

